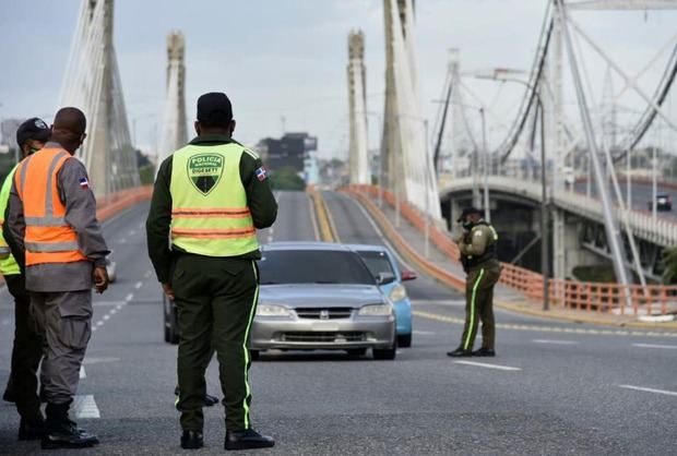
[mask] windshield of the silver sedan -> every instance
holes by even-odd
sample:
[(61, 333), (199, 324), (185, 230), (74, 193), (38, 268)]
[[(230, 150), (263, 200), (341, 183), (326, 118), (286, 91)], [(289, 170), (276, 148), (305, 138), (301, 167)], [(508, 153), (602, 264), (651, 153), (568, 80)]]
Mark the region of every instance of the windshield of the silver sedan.
[(369, 269), (354, 252), (336, 250), (269, 250), (259, 262), (261, 285), (375, 285)]

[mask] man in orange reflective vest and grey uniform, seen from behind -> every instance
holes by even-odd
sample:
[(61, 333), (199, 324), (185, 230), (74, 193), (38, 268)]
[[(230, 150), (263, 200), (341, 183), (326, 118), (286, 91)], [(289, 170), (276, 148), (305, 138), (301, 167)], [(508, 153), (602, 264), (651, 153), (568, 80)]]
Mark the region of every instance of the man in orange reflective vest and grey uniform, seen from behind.
[(19, 165), (10, 192), (12, 253), (25, 261), (26, 289), (46, 343), (43, 448), (98, 443), (69, 419), (92, 334), (92, 288), (103, 292), (108, 286), (109, 251), (96, 219), (96, 201), (84, 165), (73, 157), (85, 129), (81, 110), (59, 110), (50, 142)]

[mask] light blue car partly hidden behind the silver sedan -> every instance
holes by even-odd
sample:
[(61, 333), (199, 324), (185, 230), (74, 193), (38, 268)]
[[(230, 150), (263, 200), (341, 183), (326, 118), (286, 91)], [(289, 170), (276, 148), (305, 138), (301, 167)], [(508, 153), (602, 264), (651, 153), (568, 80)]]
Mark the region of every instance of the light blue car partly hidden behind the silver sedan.
[(402, 284), (406, 280), (416, 278), (413, 271), (400, 271), (397, 262), (393, 254), (382, 245), (348, 245), (353, 251), (357, 252), (373, 277), (382, 277), (383, 275), (392, 275), (394, 280), (385, 280), (380, 286), (381, 291), (390, 298), (395, 305), (395, 316), (397, 321), (397, 346), (412, 346), (412, 301), (406, 293), (406, 288)]

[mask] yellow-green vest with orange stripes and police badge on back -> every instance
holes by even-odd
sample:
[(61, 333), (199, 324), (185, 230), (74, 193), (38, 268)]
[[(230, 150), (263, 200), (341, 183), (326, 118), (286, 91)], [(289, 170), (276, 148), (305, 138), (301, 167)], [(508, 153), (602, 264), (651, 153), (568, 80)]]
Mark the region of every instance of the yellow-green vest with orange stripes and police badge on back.
[(237, 143), (188, 145), (171, 158), (171, 242), (205, 256), (237, 256), (259, 249), (240, 179)]

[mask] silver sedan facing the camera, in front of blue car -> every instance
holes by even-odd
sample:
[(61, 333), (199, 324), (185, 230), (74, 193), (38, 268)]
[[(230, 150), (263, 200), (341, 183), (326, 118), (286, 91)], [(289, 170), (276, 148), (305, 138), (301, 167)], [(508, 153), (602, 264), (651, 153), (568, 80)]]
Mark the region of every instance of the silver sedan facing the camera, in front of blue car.
[(341, 244), (280, 242), (262, 247), (259, 307), (251, 328), (252, 359), (266, 349), (346, 350), (392, 360), (397, 352), (395, 309), (360, 256)]

